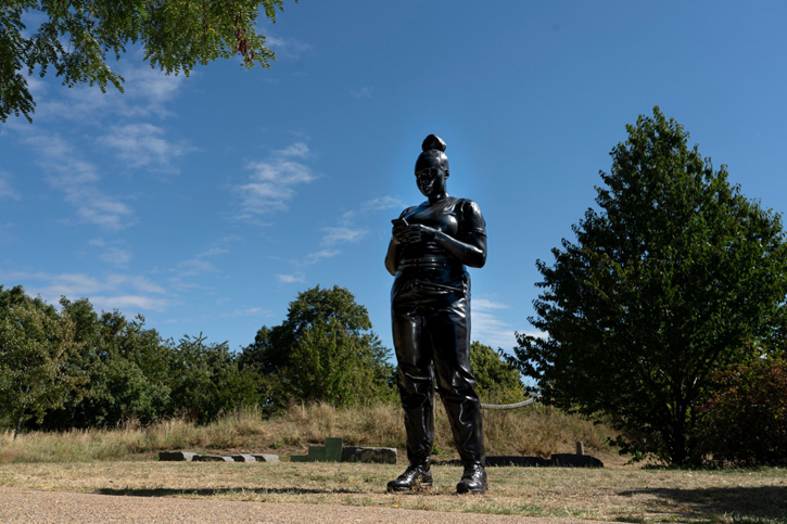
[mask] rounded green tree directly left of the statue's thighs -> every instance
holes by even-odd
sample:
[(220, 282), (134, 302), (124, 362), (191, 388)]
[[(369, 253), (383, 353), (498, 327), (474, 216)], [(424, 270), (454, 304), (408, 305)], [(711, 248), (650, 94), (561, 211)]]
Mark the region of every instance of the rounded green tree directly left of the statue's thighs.
[(388, 353), (350, 291), (318, 285), (299, 293), (281, 325), (261, 328), (240, 363), (259, 374), (269, 408), (289, 400), (347, 406), (393, 396)]

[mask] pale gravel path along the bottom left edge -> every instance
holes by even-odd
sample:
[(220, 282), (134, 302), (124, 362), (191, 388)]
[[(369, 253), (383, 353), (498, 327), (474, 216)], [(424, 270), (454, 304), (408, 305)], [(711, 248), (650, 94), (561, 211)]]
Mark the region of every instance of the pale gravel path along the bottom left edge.
[(392, 508), (92, 495), (12, 487), (0, 487), (0, 522), (588, 523)]

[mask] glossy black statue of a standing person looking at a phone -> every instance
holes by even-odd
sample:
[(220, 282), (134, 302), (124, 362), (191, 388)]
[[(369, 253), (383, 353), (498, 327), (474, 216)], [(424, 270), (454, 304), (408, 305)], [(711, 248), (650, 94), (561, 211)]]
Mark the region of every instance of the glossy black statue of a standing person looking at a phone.
[(457, 493), (485, 493), (481, 402), (470, 372), (470, 277), (486, 261), (486, 223), (478, 205), (448, 196), (445, 142), (430, 135), (416, 161), (416, 182), (428, 199), (393, 220), (385, 268), (393, 342), (405, 410), (409, 467), (389, 491), (432, 485), (434, 378), (465, 472)]

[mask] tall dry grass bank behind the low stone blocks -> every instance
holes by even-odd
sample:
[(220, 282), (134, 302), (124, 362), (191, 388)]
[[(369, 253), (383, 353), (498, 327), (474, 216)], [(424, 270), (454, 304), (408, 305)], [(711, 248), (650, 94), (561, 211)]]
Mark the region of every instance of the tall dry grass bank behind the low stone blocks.
[[(582, 440), (588, 453), (614, 458), (606, 445), (612, 432), (576, 417), (533, 406), (511, 411), (484, 411), (487, 455), (549, 457), (573, 452)], [(14, 440), (0, 434), (0, 463), (73, 462), (147, 459), (164, 450), (305, 452), (326, 436), (342, 436), (351, 446), (395, 447), (404, 452), (405, 430), (401, 408), (388, 404), (334, 409), (327, 404), (294, 405), (280, 417), (264, 420), (256, 408), (227, 414), (198, 426), (180, 419), (150, 427), (132, 423), (117, 430), (26, 433)], [(435, 448), (439, 459), (456, 458), (448, 420), (436, 410)]]

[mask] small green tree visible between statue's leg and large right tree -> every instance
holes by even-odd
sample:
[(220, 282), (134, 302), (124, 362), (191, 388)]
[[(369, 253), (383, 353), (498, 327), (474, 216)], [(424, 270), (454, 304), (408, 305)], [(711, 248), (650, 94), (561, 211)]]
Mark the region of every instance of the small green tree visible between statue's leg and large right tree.
[(478, 341), (470, 344), (470, 369), (483, 402), (513, 404), (526, 399), (519, 370), (492, 347)]

